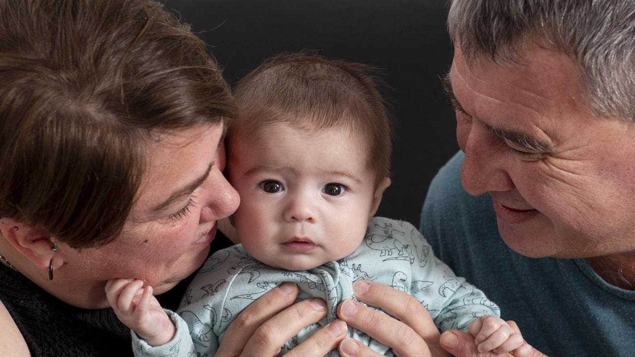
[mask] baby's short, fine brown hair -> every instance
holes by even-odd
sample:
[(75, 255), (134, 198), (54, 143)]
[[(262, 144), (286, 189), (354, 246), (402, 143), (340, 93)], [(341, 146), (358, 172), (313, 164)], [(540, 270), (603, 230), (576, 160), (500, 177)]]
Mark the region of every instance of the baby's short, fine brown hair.
[(239, 114), (229, 127), (229, 155), (232, 145), (268, 125), (342, 128), (358, 133), (368, 145), (368, 167), (376, 182), (388, 177), (392, 127), (376, 71), (307, 51), (269, 58), (236, 85)]

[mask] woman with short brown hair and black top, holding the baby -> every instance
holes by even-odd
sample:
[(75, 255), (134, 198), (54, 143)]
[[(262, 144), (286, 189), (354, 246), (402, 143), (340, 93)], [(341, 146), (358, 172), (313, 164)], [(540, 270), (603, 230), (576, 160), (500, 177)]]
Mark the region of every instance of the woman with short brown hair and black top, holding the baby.
[[(239, 201), (222, 175), (231, 94), (204, 44), (154, 1), (5, 0), (0, 14), (0, 348), (129, 355), (105, 283), (133, 276), (161, 294), (208, 257)], [(420, 304), (366, 287), (360, 300), (403, 322), (359, 304), (342, 320), (425, 356), (438, 332)], [(287, 284), (258, 299), (217, 356), (277, 354), (325, 314), (291, 305), (296, 295)], [(290, 355), (368, 352), (344, 337), (323, 328)]]

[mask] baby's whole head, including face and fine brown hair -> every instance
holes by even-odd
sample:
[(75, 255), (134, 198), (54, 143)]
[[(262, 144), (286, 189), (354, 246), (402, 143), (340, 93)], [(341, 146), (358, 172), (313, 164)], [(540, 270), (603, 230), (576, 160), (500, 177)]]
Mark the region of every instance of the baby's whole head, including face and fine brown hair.
[(236, 86), (227, 137), (233, 222), (269, 266), (311, 269), (363, 241), (388, 178), (391, 125), (366, 65), (307, 53), (267, 60)]

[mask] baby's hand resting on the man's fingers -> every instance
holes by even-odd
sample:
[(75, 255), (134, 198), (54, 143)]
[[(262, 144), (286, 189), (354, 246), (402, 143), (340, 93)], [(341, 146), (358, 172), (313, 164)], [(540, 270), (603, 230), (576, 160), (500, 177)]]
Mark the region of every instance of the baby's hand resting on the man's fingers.
[[(512, 322), (514, 327), (516, 324)], [(518, 327), (512, 328), (509, 323), (496, 316), (481, 316), (472, 321), (468, 328), (474, 336), (479, 352), (509, 352), (516, 357), (525, 357), (531, 352), (531, 346), (525, 342)]]

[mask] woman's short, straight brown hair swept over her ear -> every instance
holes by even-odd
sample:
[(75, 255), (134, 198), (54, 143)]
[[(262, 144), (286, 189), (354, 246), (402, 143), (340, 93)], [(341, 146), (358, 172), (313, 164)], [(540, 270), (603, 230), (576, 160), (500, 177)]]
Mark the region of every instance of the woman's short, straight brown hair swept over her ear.
[(0, 217), (74, 248), (123, 228), (157, 133), (222, 124), (215, 60), (152, 0), (0, 0)]

